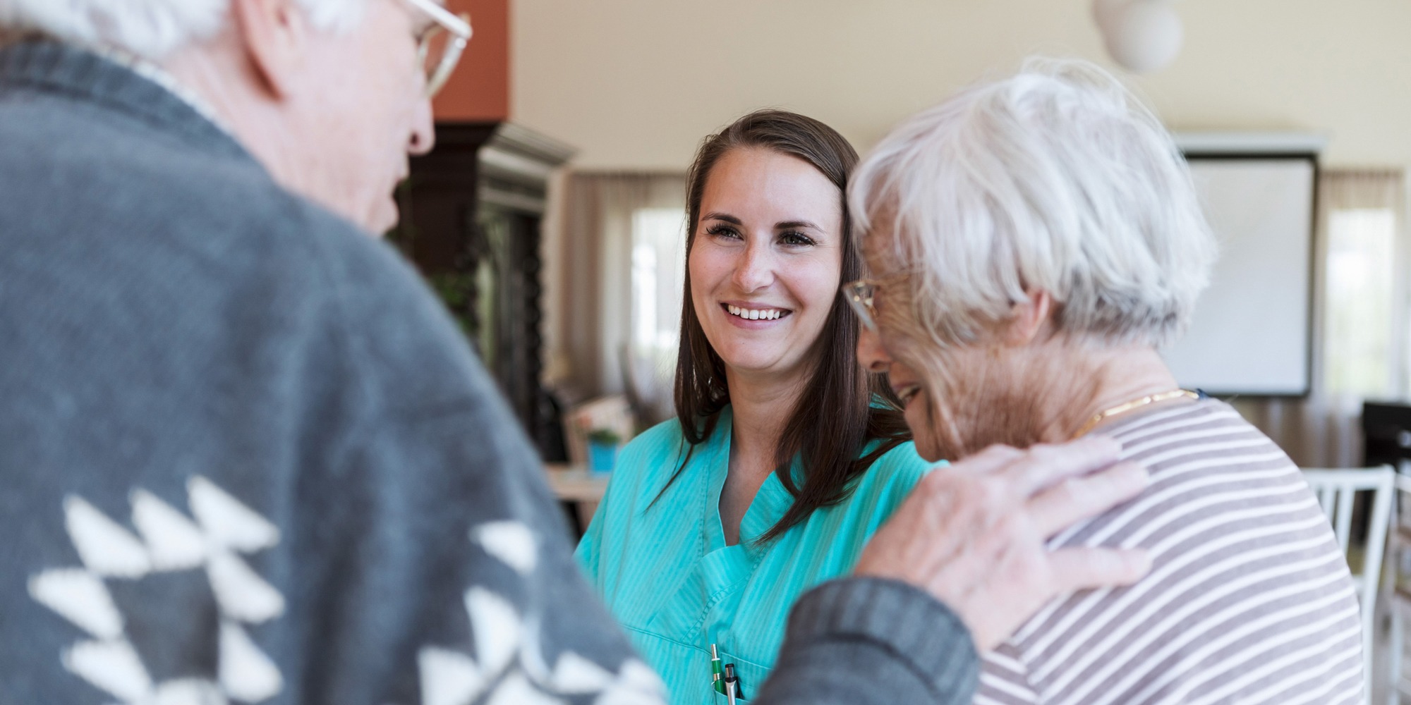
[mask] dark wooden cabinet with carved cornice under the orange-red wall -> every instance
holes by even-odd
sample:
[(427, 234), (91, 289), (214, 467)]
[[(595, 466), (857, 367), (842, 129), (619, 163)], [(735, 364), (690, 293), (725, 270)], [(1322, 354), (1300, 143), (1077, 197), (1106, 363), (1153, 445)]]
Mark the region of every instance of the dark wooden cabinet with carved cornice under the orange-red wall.
[(389, 237), (446, 300), (546, 460), (563, 436), (543, 391), (540, 226), (549, 176), (573, 149), (511, 123), (436, 127), (412, 159)]

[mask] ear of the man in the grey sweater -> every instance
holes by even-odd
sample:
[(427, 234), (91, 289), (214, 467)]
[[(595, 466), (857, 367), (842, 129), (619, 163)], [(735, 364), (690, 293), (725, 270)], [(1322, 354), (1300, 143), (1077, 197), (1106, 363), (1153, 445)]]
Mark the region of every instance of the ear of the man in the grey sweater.
[(289, 0), (231, 0), (230, 11), (261, 85), (275, 99), (289, 97), (308, 62), (303, 14)]

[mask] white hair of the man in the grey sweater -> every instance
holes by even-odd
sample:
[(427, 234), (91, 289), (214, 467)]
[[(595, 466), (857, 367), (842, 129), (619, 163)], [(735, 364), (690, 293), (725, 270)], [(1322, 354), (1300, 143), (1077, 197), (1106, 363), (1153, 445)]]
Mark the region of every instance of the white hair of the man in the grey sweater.
[[(365, 0), (296, 0), (320, 30), (344, 30)], [(224, 28), (230, 0), (0, 0), (0, 35), (42, 34), (161, 59)]]

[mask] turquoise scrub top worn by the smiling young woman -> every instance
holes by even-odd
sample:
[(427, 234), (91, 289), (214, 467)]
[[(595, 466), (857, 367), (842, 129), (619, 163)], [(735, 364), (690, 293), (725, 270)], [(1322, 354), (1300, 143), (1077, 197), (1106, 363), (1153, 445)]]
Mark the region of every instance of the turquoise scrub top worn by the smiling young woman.
[(855, 479), (841, 503), (756, 546), (746, 537), (763, 534), (793, 503), (769, 475), (741, 522), (741, 543), (725, 546), (720, 492), (729, 437), (727, 407), (650, 509), (686, 453), (680, 424), (658, 424), (628, 443), (576, 554), (677, 705), (725, 702), (711, 688), (711, 644), (722, 666), (735, 664), (748, 702), (775, 664), (794, 601), (849, 572), (872, 533), (931, 468), (904, 443)]

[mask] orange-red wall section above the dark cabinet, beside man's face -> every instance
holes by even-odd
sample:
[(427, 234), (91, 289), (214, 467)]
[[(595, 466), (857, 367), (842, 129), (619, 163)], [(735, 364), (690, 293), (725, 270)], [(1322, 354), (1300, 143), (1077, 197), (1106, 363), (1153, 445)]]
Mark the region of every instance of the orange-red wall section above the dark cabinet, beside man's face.
[(509, 0), (447, 0), (446, 8), (470, 13), (476, 34), (456, 73), (436, 96), (436, 120), (508, 120)]

